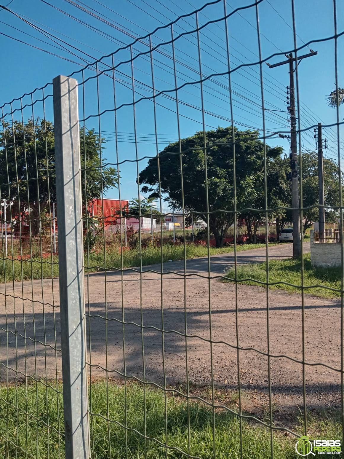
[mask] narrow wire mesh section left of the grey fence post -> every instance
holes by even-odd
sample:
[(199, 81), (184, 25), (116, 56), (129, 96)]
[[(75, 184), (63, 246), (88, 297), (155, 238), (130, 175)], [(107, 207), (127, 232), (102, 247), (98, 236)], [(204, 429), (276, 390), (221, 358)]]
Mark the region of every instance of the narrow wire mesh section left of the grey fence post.
[(64, 441), (51, 102), (46, 85), (1, 107), (3, 457), (39, 457), (42, 431), (48, 455)]

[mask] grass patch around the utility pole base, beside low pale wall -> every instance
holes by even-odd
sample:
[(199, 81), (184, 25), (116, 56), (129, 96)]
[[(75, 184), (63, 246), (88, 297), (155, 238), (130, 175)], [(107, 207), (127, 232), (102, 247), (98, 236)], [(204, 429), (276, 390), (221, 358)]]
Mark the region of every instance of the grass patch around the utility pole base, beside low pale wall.
[[(226, 276), (228, 282), (233, 282), (235, 277), (234, 269), (230, 269)], [(237, 268), (238, 280), (243, 281), (246, 285), (261, 285), (259, 282), (266, 282), (266, 263), (252, 263)], [(250, 279), (250, 280), (245, 280)], [(281, 289), (289, 293), (300, 293), (301, 289), (301, 262), (294, 258), (286, 260), (269, 261), (269, 283), (288, 282), (293, 285), (279, 283), (270, 285), (271, 290)], [(310, 287), (305, 289), (305, 293), (323, 298), (340, 297), (341, 289), (341, 269), (340, 268), (313, 268), (311, 266), (311, 254), (306, 253), (304, 256), (304, 286)], [(312, 287), (312, 285), (318, 285)], [(329, 290), (324, 287), (337, 289), (338, 291)]]

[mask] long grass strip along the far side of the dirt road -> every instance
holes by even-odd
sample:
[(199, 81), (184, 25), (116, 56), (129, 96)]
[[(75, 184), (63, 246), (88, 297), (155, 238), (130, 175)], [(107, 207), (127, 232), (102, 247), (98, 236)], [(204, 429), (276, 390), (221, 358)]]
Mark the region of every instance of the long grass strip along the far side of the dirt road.
[[(273, 245), (273, 244), (272, 244)], [(238, 245), (237, 250), (251, 250), (255, 248), (264, 247), (263, 244), (243, 244)], [(221, 253), (234, 252), (233, 246), (222, 248), (210, 248), (210, 254), (216, 255)], [(208, 249), (204, 246), (199, 246), (193, 243), (186, 244), (186, 258), (206, 257)], [(184, 259), (184, 246), (167, 243), (163, 246), (162, 251), (163, 261), (168, 260), (177, 261)], [(142, 265), (150, 265), (160, 263), (161, 249), (160, 247), (151, 245), (142, 249)], [(87, 265), (87, 257), (85, 255), (85, 266)], [(101, 271), (104, 266), (104, 251), (91, 252), (89, 254), (89, 272)], [(139, 248), (135, 247), (132, 250), (123, 252), (123, 268), (133, 268), (140, 266), (140, 253)], [(106, 267), (121, 269), (121, 255), (119, 254), (118, 247), (109, 248), (106, 251)], [(32, 271), (32, 272), (31, 272)], [(43, 258), (41, 262), (40, 257), (33, 257), (30, 260), (11, 260), (6, 259), (0, 262), (0, 282), (11, 282), (13, 279), (17, 281), (32, 279), (49, 279), (57, 277), (58, 271), (58, 256)]]

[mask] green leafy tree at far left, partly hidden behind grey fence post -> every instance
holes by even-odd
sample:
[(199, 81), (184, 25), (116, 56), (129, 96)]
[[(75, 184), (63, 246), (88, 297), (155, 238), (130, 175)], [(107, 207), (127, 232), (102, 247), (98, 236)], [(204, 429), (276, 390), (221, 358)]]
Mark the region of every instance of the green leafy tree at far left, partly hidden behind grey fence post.
[[(105, 140), (102, 140), (104, 149)], [(80, 129), (82, 198), (89, 202), (100, 197), (103, 190), (117, 185), (117, 170), (103, 167), (100, 172), (100, 139), (94, 129)], [(103, 162), (105, 158), (103, 157)], [(12, 218), (31, 219), (31, 228), (39, 231), (44, 214), (50, 213), (49, 202), (56, 202), (54, 125), (50, 121), (29, 119), (23, 124), (4, 124), (0, 133), (1, 199), (14, 202)], [(85, 190), (87, 202), (85, 200)], [(20, 203), (20, 208), (19, 208)], [(26, 222), (27, 223), (27, 222)]]

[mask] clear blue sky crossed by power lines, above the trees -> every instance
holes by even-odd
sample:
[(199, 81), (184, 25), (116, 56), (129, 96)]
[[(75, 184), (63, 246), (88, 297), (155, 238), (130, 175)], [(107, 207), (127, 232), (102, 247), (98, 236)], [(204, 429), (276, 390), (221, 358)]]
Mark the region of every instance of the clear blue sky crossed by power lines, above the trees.
[[(87, 62), (94, 62), (101, 56), (113, 53), (118, 48), (133, 42), (134, 38), (142, 37), (175, 20), (179, 15), (190, 13), (205, 4), (196, 0), (12, 0), (8, 8), (15, 11), (28, 22), (33, 23), (45, 32), (45, 35), (20, 18), (8, 11), (0, 11), (0, 31), (25, 43), (15, 41), (5, 35), (0, 35), (2, 62), (5, 70), (0, 73), (0, 105), (10, 102), (34, 88), (41, 88), (59, 75), (73, 75), (82, 82), (80, 69)], [(6, 1), (5, 5), (8, 3)], [(52, 6), (48, 5), (50, 3)], [(227, 2), (227, 14), (239, 6), (250, 5), (249, 2), (230, 0)], [(53, 7), (55, 6), (55, 8)], [(339, 7), (339, 5), (338, 5)], [(261, 32), (261, 55), (263, 59), (275, 53), (268, 59), (271, 64), (285, 59), (284, 53), (294, 49), (292, 30), (292, 2), (282, 0), (263, 0), (259, 4), (259, 25)], [(61, 11), (58, 11), (61, 10)], [(87, 11), (85, 11), (87, 10)], [(224, 5), (220, 1), (206, 6), (198, 13), (199, 25), (223, 18)], [(96, 16), (98, 17), (96, 17)], [(79, 21), (79, 22), (78, 22)], [(343, 14), (337, 15), (338, 33), (344, 30)], [(257, 38), (257, 23), (255, 7), (233, 13), (228, 18), (228, 40), (230, 47), (231, 69), (259, 61)], [(333, 3), (321, 0), (295, 0), (295, 23), (297, 46), (303, 46), (311, 40), (326, 39), (334, 34)], [(173, 25), (174, 38), (186, 31), (195, 29), (195, 15), (180, 19)], [(29, 34), (29, 35), (28, 35)], [(54, 39), (55, 41), (52, 41)], [(60, 41), (63, 40), (65, 43)], [(44, 42), (39, 41), (44, 40)], [(151, 37), (152, 45), (156, 46), (171, 40), (171, 28), (161, 28)], [(338, 38), (338, 83), (344, 85), (343, 76), (343, 41)], [(53, 56), (42, 50), (28, 46), (26, 43), (54, 53)], [(72, 45), (72, 47), (70, 46)], [(147, 53), (148, 39), (139, 40), (133, 45), (133, 56)], [(175, 61), (178, 87), (191, 83), (178, 90), (179, 124), (181, 136), (192, 135), (202, 130), (202, 110), (200, 98), (199, 57), (197, 35), (183, 35), (176, 39)], [(322, 122), (336, 122), (336, 112), (326, 104), (325, 96), (333, 89), (334, 72), (334, 40), (312, 43), (310, 48), (318, 51), (317, 56), (305, 59), (298, 67), (298, 84), (300, 95), (300, 125), (302, 129)], [(299, 54), (309, 52), (307, 47)], [(200, 56), (203, 77), (210, 74), (227, 72), (227, 51), (224, 21), (213, 22), (200, 31)], [(69, 59), (74, 62), (69, 62)], [(130, 63), (130, 49), (120, 50), (114, 55), (116, 80), (117, 134), (118, 156), (121, 162), (121, 197), (131, 199), (138, 196), (136, 185), (137, 166), (135, 159), (139, 157), (139, 170), (145, 167), (144, 157), (154, 156), (155, 124), (154, 110), (151, 99), (135, 104), (135, 123), (138, 149), (134, 142), (133, 90)], [(172, 46), (160, 45), (153, 51), (153, 68), (155, 91), (172, 90), (175, 86)], [(120, 64), (120, 65), (118, 65)], [(102, 60), (99, 72), (112, 66), (112, 58)], [(274, 134), (287, 133), (289, 130), (286, 86), (289, 85), (288, 65), (270, 69), (265, 63), (263, 69), (264, 106), (266, 117), (266, 135), (272, 135), (266, 140), (271, 146), (281, 145), (289, 153), (289, 142)], [(115, 124), (114, 124), (114, 91), (112, 73), (103, 73), (98, 78), (100, 112), (100, 131), (106, 138), (103, 152), (107, 162), (116, 160)], [(150, 54), (144, 54), (134, 59), (134, 88), (135, 100), (141, 97), (151, 97), (152, 78)], [(79, 86), (80, 119), (88, 118), (87, 128), (99, 130), (97, 78), (95, 68), (89, 67), (84, 71), (84, 80), (88, 81)], [(109, 78), (110, 76), (110, 78)], [(262, 101), (260, 84), (260, 66), (249, 65), (231, 73), (233, 118), (234, 124), (242, 129), (259, 129), (262, 134)], [(85, 107), (83, 108), (83, 89)], [(216, 75), (203, 85), (204, 110), (206, 129), (230, 125), (230, 104), (227, 75)], [(44, 95), (51, 94), (51, 85), (45, 88)], [(34, 100), (42, 99), (42, 91), (36, 91)], [(29, 103), (28, 97), (23, 99)], [(26, 102), (25, 102), (26, 101)], [(126, 105), (129, 104), (129, 105)], [(18, 108), (19, 101), (14, 101), (13, 108)], [(46, 118), (52, 119), (52, 98), (45, 101)], [(9, 116), (10, 106), (4, 107), (5, 118)], [(24, 116), (32, 116), (29, 107), (24, 109)], [(42, 102), (34, 105), (34, 116), (42, 116)], [(20, 112), (15, 112), (15, 118)], [(178, 116), (176, 113), (175, 92), (164, 92), (156, 97), (156, 117), (158, 148), (162, 150), (170, 141), (178, 139)], [(341, 109), (340, 120), (344, 117)], [(342, 128), (340, 128), (341, 134)], [(328, 141), (328, 157), (338, 158), (337, 128), (325, 128), (324, 137)], [(302, 134), (303, 149), (313, 150), (315, 140), (313, 129)], [(342, 153), (340, 152), (342, 155)], [(118, 190), (110, 190), (108, 197), (118, 197)]]

